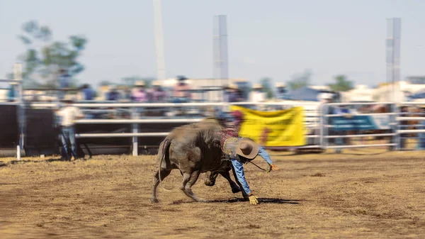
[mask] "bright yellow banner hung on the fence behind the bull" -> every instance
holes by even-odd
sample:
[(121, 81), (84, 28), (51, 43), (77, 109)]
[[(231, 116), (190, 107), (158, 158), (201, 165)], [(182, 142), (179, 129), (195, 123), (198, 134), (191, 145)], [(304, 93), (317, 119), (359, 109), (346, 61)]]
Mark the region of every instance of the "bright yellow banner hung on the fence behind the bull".
[(305, 145), (304, 109), (294, 107), (284, 111), (254, 111), (230, 106), (241, 111), (244, 118), (239, 135), (251, 138), (266, 147)]

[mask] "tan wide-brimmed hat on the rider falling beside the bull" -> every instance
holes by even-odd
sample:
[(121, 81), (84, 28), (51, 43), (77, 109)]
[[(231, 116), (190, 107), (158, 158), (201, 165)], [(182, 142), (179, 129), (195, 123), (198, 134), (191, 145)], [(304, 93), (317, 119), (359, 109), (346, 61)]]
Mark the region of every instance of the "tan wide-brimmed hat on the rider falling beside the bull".
[(233, 137), (225, 141), (223, 148), (226, 153), (236, 151), (237, 155), (252, 160), (259, 154), (260, 145), (249, 138)]

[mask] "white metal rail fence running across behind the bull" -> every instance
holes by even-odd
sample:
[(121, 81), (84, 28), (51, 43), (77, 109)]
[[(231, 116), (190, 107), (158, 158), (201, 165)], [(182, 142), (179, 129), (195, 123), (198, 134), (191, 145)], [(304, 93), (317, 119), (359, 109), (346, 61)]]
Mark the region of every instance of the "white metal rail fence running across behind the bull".
[[(334, 130), (335, 124), (332, 123), (332, 119), (338, 117), (345, 117), (344, 113), (330, 112), (329, 109), (338, 109), (345, 105), (352, 109), (358, 105), (383, 105), (387, 106), (389, 111), (383, 113), (361, 113), (351, 112), (353, 116), (385, 116), (389, 123), (389, 128), (385, 130), (346, 130), (338, 132)], [(419, 103), (404, 102), (402, 105), (416, 106)], [(399, 106), (392, 104), (391, 102), (373, 102), (373, 103), (333, 103), (333, 104), (322, 104), (317, 102), (265, 102), (260, 104), (253, 104), (251, 102), (237, 103), (240, 106), (262, 106), (266, 110), (274, 109), (288, 109), (295, 106), (301, 106), (305, 109), (305, 127), (307, 129), (307, 145), (296, 147), (302, 148), (321, 148), (321, 149), (339, 149), (339, 148), (359, 148), (359, 147), (389, 147), (392, 149), (403, 149), (404, 148), (404, 136), (411, 134), (410, 138), (416, 139), (418, 142), (425, 142), (425, 114), (422, 112), (416, 113), (405, 113), (399, 112)], [(55, 107), (57, 104), (30, 104), (31, 107)], [(125, 111), (129, 113), (129, 118), (84, 118), (77, 121), (77, 124), (130, 124), (130, 132), (124, 133), (77, 133), (76, 138), (132, 138), (132, 155), (138, 155), (139, 143), (137, 138), (139, 137), (152, 137), (152, 136), (166, 136), (166, 132), (150, 132), (142, 133), (139, 127), (143, 127), (144, 123), (193, 123), (202, 121), (205, 118), (205, 111), (208, 107), (217, 107), (224, 109), (229, 106), (225, 103), (186, 103), (186, 104), (138, 104), (138, 103), (78, 103), (74, 106), (79, 107), (86, 113), (96, 112), (114, 112), (114, 111)], [(186, 114), (183, 116), (144, 116), (144, 113), (162, 109), (162, 111), (173, 111), (180, 110), (185, 111)], [(189, 111), (191, 109), (192, 111)], [(406, 127), (405, 122), (416, 122), (409, 123)], [(404, 123), (403, 123), (404, 122)], [(383, 143), (350, 143), (341, 139), (356, 139), (356, 138), (368, 138), (368, 137), (383, 137)], [(339, 140), (339, 143), (336, 142)], [(333, 143), (332, 143), (333, 142)], [(342, 143), (341, 143), (342, 142)], [(425, 145), (424, 145), (425, 146)]]

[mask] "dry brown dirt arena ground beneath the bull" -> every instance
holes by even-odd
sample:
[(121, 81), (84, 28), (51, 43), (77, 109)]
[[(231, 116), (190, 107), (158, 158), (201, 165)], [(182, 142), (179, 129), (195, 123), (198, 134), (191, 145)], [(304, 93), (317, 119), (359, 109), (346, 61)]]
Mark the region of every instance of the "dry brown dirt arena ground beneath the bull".
[(176, 170), (150, 204), (154, 156), (3, 158), (0, 238), (425, 238), (424, 152), (271, 155), (246, 165), (257, 206), (203, 175), (195, 203)]

